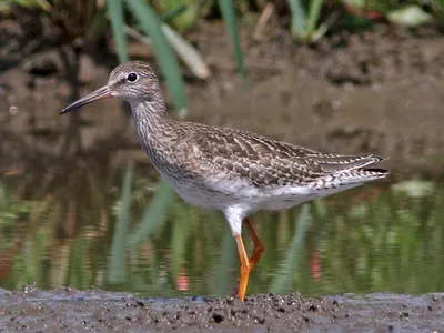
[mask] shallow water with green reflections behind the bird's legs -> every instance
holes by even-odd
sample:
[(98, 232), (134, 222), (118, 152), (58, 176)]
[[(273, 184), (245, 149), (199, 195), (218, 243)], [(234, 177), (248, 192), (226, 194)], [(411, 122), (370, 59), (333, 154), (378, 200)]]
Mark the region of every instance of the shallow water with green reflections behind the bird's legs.
[[(155, 186), (137, 169), (129, 219), (118, 225), (124, 165), (111, 172), (99, 164), (0, 178), (0, 287), (226, 295), (239, 261), (222, 214), (174, 194), (164, 219), (147, 229), (141, 219)], [(265, 252), (248, 294), (442, 291), (443, 218), (443, 186), (421, 181), (375, 182), (305, 208), (259, 212), (252, 222)], [(246, 232), (244, 241), (251, 252)]]

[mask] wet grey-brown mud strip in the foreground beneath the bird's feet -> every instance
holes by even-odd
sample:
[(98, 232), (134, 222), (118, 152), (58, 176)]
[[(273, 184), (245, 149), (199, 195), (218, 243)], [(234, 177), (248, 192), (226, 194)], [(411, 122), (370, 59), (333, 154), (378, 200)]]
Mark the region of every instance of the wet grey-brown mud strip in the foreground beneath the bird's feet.
[(70, 287), (2, 290), (0, 332), (438, 332), (444, 296), (369, 294), (305, 299), (141, 299)]

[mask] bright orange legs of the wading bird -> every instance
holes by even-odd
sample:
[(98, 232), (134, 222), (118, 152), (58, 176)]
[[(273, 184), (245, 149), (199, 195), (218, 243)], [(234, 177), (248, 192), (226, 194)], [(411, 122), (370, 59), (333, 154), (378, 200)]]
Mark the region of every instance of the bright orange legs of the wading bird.
[(245, 296), (246, 285), (249, 284), (250, 272), (254, 268), (259, 259), (262, 256), (262, 253), (264, 252), (265, 249), (261, 240), (258, 238), (258, 234), (255, 233), (253, 226), (251, 225), (250, 220), (245, 218), (243, 222), (245, 223), (250, 236), (253, 240), (254, 249), (253, 249), (253, 254), (249, 259), (246, 256), (246, 251), (245, 246), (243, 245), (242, 236), (240, 234), (235, 235), (239, 259), (241, 261), (240, 281), (238, 290), (238, 297), (241, 302), (243, 302)]

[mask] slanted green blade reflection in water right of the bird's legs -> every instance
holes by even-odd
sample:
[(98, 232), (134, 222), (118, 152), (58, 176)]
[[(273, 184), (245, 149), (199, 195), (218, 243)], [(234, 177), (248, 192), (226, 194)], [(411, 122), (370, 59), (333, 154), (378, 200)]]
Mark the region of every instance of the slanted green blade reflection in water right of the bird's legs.
[(305, 234), (309, 230), (311, 216), (309, 213), (310, 205), (304, 204), (297, 216), (296, 232), (290, 244), (285, 260), (281, 263), (278, 273), (271, 281), (270, 291), (272, 293), (283, 293), (290, 290), (292, 279), (299, 266), (301, 253), (304, 250)]

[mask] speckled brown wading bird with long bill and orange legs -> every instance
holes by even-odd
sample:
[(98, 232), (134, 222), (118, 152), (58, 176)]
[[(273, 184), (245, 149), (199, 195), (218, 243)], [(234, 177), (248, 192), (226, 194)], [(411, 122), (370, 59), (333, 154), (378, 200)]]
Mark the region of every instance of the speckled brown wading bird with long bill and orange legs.
[[(118, 65), (104, 87), (60, 114), (107, 98), (130, 104), (142, 149), (184, 201), (224, 214), (240, 259), (236, 297), (241, 302), (264, 252), (250, 221), (254, 212), (286, 210), (390, 173), (373, 167), (385, 159), (375, 154), (323, 153), (239, 129), (175, 120), (168, 113), (153, 69), (142, 61)], [(243, 225), (253, 241), (250, 256)]]

